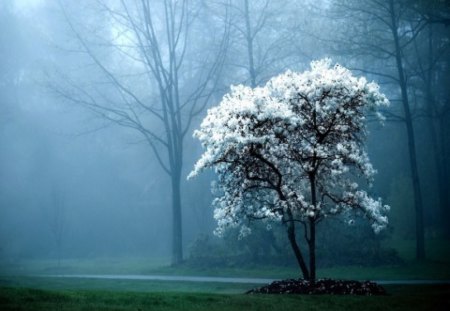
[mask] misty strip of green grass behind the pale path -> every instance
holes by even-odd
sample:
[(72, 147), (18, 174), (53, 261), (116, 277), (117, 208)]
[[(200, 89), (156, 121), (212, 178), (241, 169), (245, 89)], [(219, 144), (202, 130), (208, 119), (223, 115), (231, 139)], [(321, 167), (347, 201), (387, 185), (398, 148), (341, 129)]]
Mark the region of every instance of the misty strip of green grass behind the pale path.
[[(450, 256), (448, 257), (450, 258)], [(54, 274), (156, 274), (196, 275), (260, 278), (293, 278), (299, 276), (295, 267), (249, 266), (242, 268), (171, 267), (168, 263), (145, 259), (89, 259), (63, 260), (58, 267), (55, 261), (34, 260), (15, 264), (0, 263), (0, 276), (29, 276)], [(449, 261), (406, 261), (394, 266), (340, 266), (318, 269), (319, 277), (357, 280), (414, 280), (450, 279)]]

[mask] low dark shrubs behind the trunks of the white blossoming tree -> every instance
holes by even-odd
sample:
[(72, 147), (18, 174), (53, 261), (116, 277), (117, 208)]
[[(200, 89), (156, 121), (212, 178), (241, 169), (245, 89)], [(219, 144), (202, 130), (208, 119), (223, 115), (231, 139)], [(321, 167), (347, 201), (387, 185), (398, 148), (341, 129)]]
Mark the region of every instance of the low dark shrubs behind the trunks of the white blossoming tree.
[[(356, 221), (343, 227), (343, 219), (327, 219), (317, 235), (317, 266), (379, 267), (400, 265), (404, 261), (392, 247), (385, 247), (380, 237), (365, 222)], [(239, 229), (227, 230), (223, 239), (205, 234), (199, 235), (189, 248), (185, 265), (193, 268), (210, 267), (294, 267), (292, 250), (280, 225), (271, 230), (258, 223), (251, 223), (251, 235), (239, 239)]]

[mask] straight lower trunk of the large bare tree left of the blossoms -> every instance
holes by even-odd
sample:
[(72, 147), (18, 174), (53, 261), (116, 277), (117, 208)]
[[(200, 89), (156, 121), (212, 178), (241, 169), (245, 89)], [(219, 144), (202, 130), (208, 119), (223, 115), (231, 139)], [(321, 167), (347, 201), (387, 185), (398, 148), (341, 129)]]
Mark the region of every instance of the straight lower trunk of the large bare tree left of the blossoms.
[(181, 168), (171, 175), (172, 182), (172, 265), (183, 261), (183, 239), (181, 222)]

